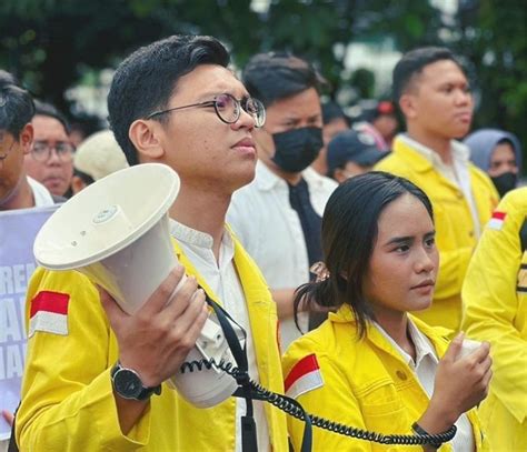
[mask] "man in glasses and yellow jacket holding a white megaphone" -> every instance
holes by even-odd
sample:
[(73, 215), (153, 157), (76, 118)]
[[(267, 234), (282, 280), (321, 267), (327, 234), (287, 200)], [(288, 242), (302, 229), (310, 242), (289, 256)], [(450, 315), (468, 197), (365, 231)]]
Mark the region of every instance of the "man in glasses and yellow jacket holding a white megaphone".
[[(241, 450), (243, 400), (229, 398), (203, 410), (165, 384), (207, 318), (198, 283), (247, 331), (251, 379), (282, 392), (275, 304), (225, 225), (232, 192), (255, 175), (252, 130), (265, 120), (261, 103), (249, 98), (228, 61), (211, 37), (173, 36), (139, 49), (118, 68), (108, 99), (112, 130), (130, 164), (160, 162), (178, 171), (171, 234), (193, 278), (168, 303), (183, 273), (179, 267), (129, 315), (80, 273), (39, 269), (26, 309), (21, 450)], [(43, 321), (42, 312), (67, 321)], [(129, 384), (117, 384), (119, 374)], [(139, 393), (130, 390), (138, 386)], [(253, 418), (259, 450), (288, 450), (284, 413), (255, 402)]]

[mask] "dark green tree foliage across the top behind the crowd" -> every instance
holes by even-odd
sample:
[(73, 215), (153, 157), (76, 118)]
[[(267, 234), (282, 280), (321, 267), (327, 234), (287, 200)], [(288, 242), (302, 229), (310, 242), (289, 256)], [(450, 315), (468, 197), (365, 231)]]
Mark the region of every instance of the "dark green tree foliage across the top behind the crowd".
[[(86, 68), (116, 67), (130, 50), (173, 33), (212, 34), (241, 68), (258, 51), (289, 50), (314, 61), (329, 96), (365, 82), (345, 71), (350, 42), (389, 37), (398, 50), (447, 44), (461, 52), (481, 99), (478, 125), (520, 134), (527, 109), (523, 0), (460, 0), (449, 18), (420, 0), (2, 0), (0, 67), (34, 94), (68, 108), (64, 90)], [(355, 70), (360, 68), (354, 68)], [(365, 87), (357, 87), (368, 92)], [(525, 148), (525, 147), (524, 147)]]

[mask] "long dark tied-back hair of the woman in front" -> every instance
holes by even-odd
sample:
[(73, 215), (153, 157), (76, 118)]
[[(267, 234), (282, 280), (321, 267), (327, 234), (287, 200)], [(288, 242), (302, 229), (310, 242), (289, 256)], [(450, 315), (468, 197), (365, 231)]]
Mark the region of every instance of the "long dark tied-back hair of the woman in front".
[[(338, 308), (345, 303), (354, 311), (358, 334), (366, 331), (372, 318), (371, 307), (362, 292), (362, 282), (377, 241), (378, 220), (384, 209), (409, 193), (422, 202), (434, 221), (430, 200), (409, 180), (381, 171), (348, 179), (326, 204), (322, 218), (322, 254), (329, 278), (310, 282), (295, 293), (295, 315), (299, 303)], [(409, 221), (411, 221), (409, 219)]]

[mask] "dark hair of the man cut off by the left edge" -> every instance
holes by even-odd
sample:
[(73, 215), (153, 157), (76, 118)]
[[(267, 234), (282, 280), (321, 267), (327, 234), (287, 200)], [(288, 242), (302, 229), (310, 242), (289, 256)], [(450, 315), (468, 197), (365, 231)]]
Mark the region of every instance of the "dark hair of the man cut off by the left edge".
[(31, 94), (16, 84), (16, 78), (0, 70), (0, 131), (18, 140), (20, 132), (34, 114)]

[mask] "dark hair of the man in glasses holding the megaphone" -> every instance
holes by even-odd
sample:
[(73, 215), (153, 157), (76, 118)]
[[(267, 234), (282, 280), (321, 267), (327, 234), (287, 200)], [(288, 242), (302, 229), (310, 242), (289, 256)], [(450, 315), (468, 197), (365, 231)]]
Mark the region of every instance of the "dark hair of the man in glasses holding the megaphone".
[[(128, 138), (130, 125), (168, 108), (178, 80), (201, 64), (229, 64), (229, 53), (216, 38), (172, 36), (130, 54), (117, 68), (108, 94), (109, 121), (130, 165), (139, 163)], [(167, 121), (159, 114), (156, 120)]]

